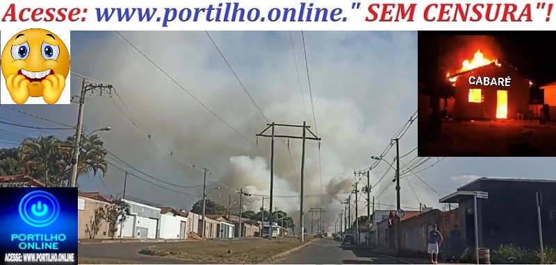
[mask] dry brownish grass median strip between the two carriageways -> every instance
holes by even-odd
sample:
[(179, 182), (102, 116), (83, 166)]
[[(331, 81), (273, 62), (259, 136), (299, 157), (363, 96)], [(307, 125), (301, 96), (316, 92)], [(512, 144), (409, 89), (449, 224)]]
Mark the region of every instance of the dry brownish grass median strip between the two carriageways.
[(272, 262), (275, 255), (302, 246), (311, 240), (300, 242), (297, 237), (284, 237), (272, 240), (243, 239), (159, 243), (149, 246), (143, 252), (199, 262), (266, 263)]

